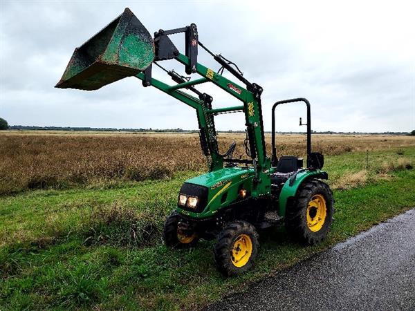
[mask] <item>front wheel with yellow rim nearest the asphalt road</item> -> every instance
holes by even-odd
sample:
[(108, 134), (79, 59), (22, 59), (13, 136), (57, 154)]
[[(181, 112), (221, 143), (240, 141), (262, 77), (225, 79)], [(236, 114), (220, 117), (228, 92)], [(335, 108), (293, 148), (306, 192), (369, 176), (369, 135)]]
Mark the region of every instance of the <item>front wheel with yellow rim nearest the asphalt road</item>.
[(259, 248), (255, 227), (243, 220), (227, 225), (214, 246), (214, 260), (224, 276), (234, 276), (250, 270)]

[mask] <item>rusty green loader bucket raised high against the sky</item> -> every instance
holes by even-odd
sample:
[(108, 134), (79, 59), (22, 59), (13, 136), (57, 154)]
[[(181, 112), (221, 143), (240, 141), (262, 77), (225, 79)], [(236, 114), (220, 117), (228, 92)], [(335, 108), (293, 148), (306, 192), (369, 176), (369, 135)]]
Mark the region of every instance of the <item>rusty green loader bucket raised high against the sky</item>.
[(57, 88), (92, 91), (138, 74), (154, 60), (154, 41), (133, 12), (126, 8), (75, 52)]

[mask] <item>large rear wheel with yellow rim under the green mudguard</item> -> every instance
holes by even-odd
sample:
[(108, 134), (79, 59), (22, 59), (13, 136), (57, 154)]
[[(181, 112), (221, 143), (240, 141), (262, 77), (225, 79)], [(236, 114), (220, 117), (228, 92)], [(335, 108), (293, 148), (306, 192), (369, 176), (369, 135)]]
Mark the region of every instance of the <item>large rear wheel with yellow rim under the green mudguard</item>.
[(306, 245), (320, 243), (330, 231), (334, 213), (333, 192), (321, 180), (306, 180), (286, 211), (286, 229)]

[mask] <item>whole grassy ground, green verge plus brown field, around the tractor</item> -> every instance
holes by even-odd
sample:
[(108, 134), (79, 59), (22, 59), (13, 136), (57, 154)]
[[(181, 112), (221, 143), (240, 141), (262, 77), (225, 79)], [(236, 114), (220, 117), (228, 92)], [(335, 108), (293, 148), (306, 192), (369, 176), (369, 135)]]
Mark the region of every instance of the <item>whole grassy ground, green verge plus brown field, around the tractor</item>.
[[(222, 144), (243, 139), (228, 136), (223, 135)], [(324, 169), (335, 189), (329, 238), (303, 247), (290, 241), (284, 228), (261, 232), (256, 267), (224, 279), (214, 268), (214, 242), (171, 250), (161, 241), (181, 183), (203, 169), (196, 135), (7, 133), (0, 140), (1, 158), (6, 159), (0, 171), (0, 310), (194, 310), (415, 206), (414, 138), (316, 135), (315, 147), (326, 151)], [(156, 142), (162, 141), (157, 149)], [(292, 135), (279, 141), (286, 153), (299, 151), (304, 143)], [(194, 151), (185, 163), (175, 158), (183, 148)], [(104, 169), (107, 157), (120, 160), (120, 167), (129, 165), (133, 162), (122, 162), (128, 152), (130, 159), (142, 161), (138, 169), (150, 170), (158, 163), (154, 161), (166, 158), (172, 167), (167, 166), (166, 175), (141, 181), (94, 169), (86, 180), (59, 179), (70, 176), (76, 165), (81, 172), (93, 162)], [(33, 163), (50, 164), (48, 172), (59, 170), (57, 183), (30, 190), (24, 179), (10, 179), (13, 172), (5, 162), (19, 171), (16, 176), (34, 170)]]

